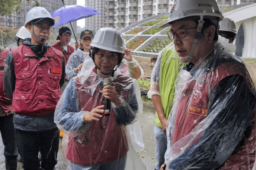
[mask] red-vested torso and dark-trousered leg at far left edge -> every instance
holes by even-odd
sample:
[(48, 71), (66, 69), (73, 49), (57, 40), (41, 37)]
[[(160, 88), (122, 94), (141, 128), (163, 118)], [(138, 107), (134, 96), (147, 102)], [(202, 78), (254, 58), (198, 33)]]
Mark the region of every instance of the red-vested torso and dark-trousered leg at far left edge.
[(4, 157), (6, 170), (17, 169), (17, 147), (14, 135), (13, 114), (11, 102), (3, 92), (3, 68), (5, 58), (9, 50), (0, 47), (0, 132), (4, 145)]

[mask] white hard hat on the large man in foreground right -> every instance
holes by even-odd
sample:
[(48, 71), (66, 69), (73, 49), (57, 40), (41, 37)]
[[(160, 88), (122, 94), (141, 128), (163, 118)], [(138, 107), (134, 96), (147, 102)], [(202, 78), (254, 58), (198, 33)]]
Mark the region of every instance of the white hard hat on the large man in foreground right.
[(215, 16), (222, 20), (216, 0), (176, 0), (170, 9), (166, 23), (159, 27), (171, 26), (171, 22), (189, 16)]

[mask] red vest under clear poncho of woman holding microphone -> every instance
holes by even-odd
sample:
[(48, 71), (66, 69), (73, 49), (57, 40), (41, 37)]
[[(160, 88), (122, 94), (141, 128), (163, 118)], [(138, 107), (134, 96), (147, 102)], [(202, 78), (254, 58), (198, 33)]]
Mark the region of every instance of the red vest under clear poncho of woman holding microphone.
[[(124, 76), (124, 78), (129, 77)], [(74, 81), (79, 80), (75, 77)], [(95, 81), (96, 77), (90, 76), (84, 84), (75, 83), (79, 103), (78, 111), (81, 109), (90, 111), (96, 106), (103, 105), (104, 98), (99, 92), (99, 86), (96, 87), (92, 96), (90, 89), (84, 88), (84, 86), (90, 87)], [(122, 96), (126, 101), (129, 98), (129, 90), (124, 90), (129, 85), (127, 82), (124, 79), (122, 81), (118, 76), (112, 81), (117, 95)], [(77, 141), (78, 139), (80, 142)], [(66, 158), (74, 164), (83, 166), (112, 162), (125, 156), (128, 151), (126, 128), (116, 122), (112, 108), (109, 117), (103, 116), (103, 119), (93, 121), (83, 135), (75, 138), (69, 137), (68, 141)]]

